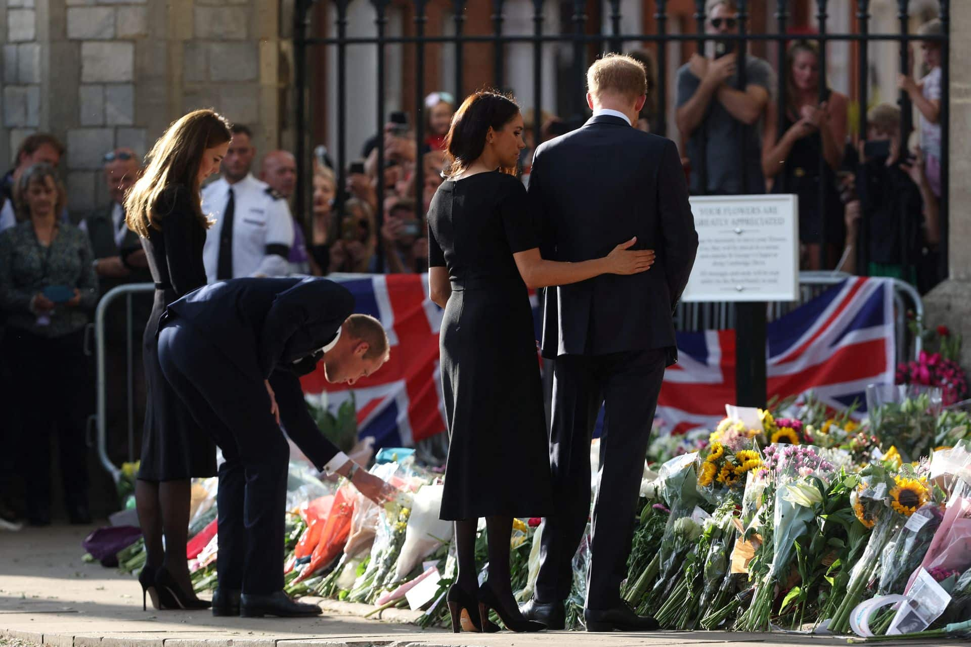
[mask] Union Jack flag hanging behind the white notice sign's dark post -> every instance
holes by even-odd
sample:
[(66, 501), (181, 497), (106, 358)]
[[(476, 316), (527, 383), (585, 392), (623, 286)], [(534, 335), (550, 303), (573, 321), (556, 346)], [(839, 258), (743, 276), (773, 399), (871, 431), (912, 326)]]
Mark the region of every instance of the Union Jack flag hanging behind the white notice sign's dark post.
[[(769, 397), (812, 390), (837, 410), (855, 403), (861, 417), (866, 386), (893, 383), (893, 283), (848, 278), (769, 322), (766, 337)], [(664, 374), (657, 418), (673, 434), (711, 429), (734, 402), (735, 331), (678, 333), (678, 364)]]

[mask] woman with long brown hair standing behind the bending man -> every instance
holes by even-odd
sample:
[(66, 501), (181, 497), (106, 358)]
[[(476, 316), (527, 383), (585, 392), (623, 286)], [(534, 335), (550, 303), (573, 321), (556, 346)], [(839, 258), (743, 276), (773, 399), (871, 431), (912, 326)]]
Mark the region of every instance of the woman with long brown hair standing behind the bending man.
[(191, 478), (216, 475), (216, 445), (166, 382), (158, 365), (156, 332), (169, 304), (206, 284), (202, 248), (210, 220), (202, 212), (199, 191), (203, 180), (218, 172), (231, 139), (229, 124), (219, 114), (199, 110), (184, 115), (152, 146), (145, 174), (125, 198), (128, 227), (141, 238), (155, 282), (143, 340), (149, 397), (135, 485), (147, 554), (138, 577), (143, 607), (146, 594), (159, 609), (211, 606), (192, 591), (185, 542)]

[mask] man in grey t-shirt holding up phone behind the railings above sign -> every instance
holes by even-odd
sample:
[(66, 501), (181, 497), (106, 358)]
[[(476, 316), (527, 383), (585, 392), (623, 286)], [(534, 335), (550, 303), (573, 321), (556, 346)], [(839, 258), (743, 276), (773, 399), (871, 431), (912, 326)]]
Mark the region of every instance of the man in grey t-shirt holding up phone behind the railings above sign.
[[(738, 32), (734, 0), (710, 0), (705, 29), (709, 34)], [(737, 49), (737, 41), (726, 41)], [(738, 86), (735, 50), (714, 60), (693, 54), (678, 70), (678, 129), (687, 137), (691, 193), (726, 195), (764, 193), (761, 118), (771, 95), (774, 74), (769, 64), (746, 56), (746, 88)], [(745, 133), (746, 178), (742, 185), (740, 148)], [(704, 155), (701, 154), (704, 146)], [(707, 186), (701, 185), (703, 171)]]

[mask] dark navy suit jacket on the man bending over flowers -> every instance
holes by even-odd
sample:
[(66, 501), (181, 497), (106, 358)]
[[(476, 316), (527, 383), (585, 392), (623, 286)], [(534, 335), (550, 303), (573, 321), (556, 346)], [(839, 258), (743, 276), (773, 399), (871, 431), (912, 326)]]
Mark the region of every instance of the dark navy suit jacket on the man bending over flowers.
[(314, 370), (353, 307), (347, 288), (325, 278), (234, 278), (188, 293), (167, 315), (188, 321), (252, 379), (269, 379), (287, 436), (323, 469), (338, 450), (310, 416), (299, 375)]

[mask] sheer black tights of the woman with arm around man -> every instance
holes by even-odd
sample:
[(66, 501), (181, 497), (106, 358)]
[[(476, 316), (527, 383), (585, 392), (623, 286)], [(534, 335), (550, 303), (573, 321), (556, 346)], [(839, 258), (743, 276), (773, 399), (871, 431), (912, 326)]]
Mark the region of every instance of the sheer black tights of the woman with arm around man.
[[(455, 522), (455, 549), (458, 553), (459, 588), (476, 594), (478, 570), (476, 568), (476, 529), (478, 519)], [(519, 616), (516, 598), (513, 598), (512, 575), (509, 569), (510, 540), (513, 536), (513, 517), (485, 517), (485, 536), (488, 541), (488, 579), (485, 584), (504, 607), (509, 616)]]

